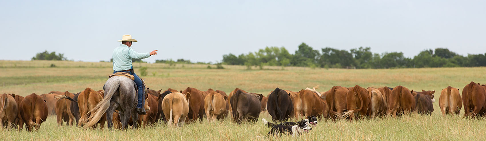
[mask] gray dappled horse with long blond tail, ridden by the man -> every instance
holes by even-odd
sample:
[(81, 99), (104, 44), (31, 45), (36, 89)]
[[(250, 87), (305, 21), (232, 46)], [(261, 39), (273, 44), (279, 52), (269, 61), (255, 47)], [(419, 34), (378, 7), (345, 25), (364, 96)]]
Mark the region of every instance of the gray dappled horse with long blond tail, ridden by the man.
[[(139, 114), (135, 111), (137, 106), (137, 85), (135, 82), (127, 77), (114, 76), (106, 80), (104, 83), (104, 97), (96, 105), (96, 107), (88, 112), (91, 115), (88, 117), (88, 123), (84, 127), (90, 127), (100, 120), (103, 114), (106, 113), (106, 120), (108, 121), (108, 128), (113, 127), (113, 112), (120, 111), (121, 128), (128, 128), (128, 120), (130, 115), (132, 119), (138, 119)], [(137, 120), (133, 120), (133, 127), (138, 128)]]

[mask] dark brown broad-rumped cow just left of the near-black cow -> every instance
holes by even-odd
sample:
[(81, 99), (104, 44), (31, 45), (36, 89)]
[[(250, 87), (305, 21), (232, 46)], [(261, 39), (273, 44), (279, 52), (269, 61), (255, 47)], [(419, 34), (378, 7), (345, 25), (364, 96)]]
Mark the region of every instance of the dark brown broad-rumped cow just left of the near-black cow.
[(240, 90), (232, 94), (230, 103), (231, 109), (233, 109), (233, 121), (241, 124), (244, 118), (257, 122), (261, 111), (261, 97), (263, 97), (263, 94), (257, 96), (243, 93)]

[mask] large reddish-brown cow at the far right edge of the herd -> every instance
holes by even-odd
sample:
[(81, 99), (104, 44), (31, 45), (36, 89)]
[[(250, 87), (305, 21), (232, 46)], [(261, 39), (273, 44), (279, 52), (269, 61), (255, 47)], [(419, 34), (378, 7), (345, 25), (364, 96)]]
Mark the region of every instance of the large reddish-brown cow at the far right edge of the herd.
[(462, 89), (463, 117), (483, 116), (486, 112), (486, 91), (479, 84), (470, 82)]

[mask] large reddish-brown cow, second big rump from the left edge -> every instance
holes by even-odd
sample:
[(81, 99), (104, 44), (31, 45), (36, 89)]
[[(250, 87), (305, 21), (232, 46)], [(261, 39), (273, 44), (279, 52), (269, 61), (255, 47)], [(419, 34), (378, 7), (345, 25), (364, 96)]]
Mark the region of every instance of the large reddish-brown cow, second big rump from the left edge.
[(25, 96), (24, 100), (20, 102), (20, 116), (25, 121), (25, 128), (27, 131), (39, 130), (40, 124), (46, 121), (48, 109), (46, 100), (39, 95), (32, 93)]

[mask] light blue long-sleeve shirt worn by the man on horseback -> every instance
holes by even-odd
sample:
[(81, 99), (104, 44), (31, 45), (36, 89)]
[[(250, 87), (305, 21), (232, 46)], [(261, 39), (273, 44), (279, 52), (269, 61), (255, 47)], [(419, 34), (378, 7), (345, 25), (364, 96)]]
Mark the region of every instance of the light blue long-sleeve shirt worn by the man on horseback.
[(121, 44), (113, 50), (113, 70), (122, 71), (132, 67), (133, 59), (144, 59), (150, 57), (150, 53), (138, 53), (131, 47)]

